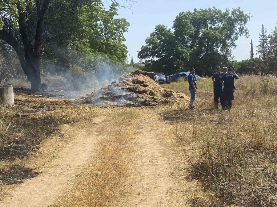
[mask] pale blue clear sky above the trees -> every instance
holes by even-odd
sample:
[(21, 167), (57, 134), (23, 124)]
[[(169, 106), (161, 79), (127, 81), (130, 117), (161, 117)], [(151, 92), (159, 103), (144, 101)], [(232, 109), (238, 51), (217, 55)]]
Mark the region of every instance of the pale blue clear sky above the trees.
[(240, 7), (244, 13), (250, 13), (252, 16), (247, 23), (250, 37), (246, 39), (242, 36), (236, 41), (237, 47), (233, 50), (233, 56), (237, 60), (250, 57), (250, 38), (253, 40), (254, 54), (256, 53), (255, 46), (259, 44), (262, 24), (270, 33), (277, 23), (277, 0), (235, 0), (230, 2), (224, 0), (137, 0), (131, 10), (124, 8), (118, 10), (119, 17), (126, 18), (130, 23), (129, 31), (125, 34), (128, 54), (130, 57), (134, 57), (135, 62), (138, 62), (137, 51), (145, 44), (145, 39), (154, 31), (156, 25), (164, 24), (171, 28), (179, 12), (213, 6), (221, 10)]

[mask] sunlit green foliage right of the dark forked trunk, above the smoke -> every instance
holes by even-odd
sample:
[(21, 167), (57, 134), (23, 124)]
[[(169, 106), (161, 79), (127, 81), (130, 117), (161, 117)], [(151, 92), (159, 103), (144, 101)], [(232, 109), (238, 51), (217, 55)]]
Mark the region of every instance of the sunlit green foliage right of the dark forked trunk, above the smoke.
[[(44, 62), (47, 71), (66, 72), (70, 65), (78, 64), (86, 72), (94, 73), (103, 70), (106, 65), (110, 67), (125, 63), (127, 48), (123, 44), (123, 33), (127, 31), (129, 23), (126, 19), (117, 18), (115, 4), (105, 10), (102, 1), (86, 2), (85, 5), (77, 6), (74, 18), (68, 16), (69, 12), (63, 12), (67, 15), (61, 16), (59, 13), (53, 9), (52, 16), (56, 16), (56, 21), (49, 21), (54, 31), (52, 33), (57, 35), (46, 45)], [(62, 31), (56, 29), (58, 25)], [(115, 70), (118, 68), (113, 67)]]

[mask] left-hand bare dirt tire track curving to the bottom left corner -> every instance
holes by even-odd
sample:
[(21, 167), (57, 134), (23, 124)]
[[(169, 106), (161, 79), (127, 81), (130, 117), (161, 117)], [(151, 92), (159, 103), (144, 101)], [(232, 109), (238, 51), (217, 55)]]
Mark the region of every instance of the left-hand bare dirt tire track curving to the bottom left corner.
[(0, 207), (41, 207), (54, 204), (62, 189), (78, 172), (78, 167), (92, 156), (98, 142), (98, 128), (106, 117), (95, 117), (94, 127), (82, 133), (73, 142), (66, 145), (54, 167), (48, 172), (26, 180), (11, 192)]

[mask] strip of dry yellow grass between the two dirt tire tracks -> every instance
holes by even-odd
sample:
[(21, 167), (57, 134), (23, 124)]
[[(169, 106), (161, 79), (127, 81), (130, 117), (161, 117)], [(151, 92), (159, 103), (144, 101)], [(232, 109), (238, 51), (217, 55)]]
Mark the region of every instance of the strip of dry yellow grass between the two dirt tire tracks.
[(94, 157), (56, 206), (118, 206), (133, 175), (136, 137), (132, 124), (138, 116), (134, 109), (114, 115), (111, 124), (100, 132)]

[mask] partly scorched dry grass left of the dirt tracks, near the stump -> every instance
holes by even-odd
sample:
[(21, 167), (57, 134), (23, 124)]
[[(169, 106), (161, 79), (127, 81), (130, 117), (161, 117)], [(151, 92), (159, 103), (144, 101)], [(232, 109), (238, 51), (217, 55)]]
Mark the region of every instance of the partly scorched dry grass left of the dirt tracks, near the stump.
[[(43, 105), (47, 110), (38, 116), (15, 115), (33, 113)], [(15, 91), (14, 107), (1, 110), (0, 200), (10, 188), (45, 170), (64, 145), (104, 109)]]

